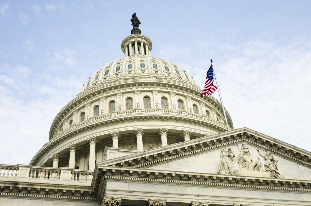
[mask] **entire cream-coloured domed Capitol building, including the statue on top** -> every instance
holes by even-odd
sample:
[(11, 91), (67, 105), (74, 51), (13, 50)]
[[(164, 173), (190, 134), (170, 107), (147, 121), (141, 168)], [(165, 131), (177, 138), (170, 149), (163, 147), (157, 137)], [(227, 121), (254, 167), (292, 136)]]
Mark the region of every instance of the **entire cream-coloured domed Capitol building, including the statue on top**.
[(81, 82), (30, 164), (0, 165), (0, 206), (311, 205), (311, 152), (234, 129), (131, 21), (121, 58)]

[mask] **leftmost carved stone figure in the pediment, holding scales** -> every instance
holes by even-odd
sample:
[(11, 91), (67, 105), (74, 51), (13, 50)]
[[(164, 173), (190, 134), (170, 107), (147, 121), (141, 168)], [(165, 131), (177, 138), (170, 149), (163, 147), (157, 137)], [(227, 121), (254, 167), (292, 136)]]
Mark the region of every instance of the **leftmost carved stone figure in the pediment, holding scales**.
[(230, 148), (228, 149), (228, 151), (225, 147), (222, 148), (222, 151), (220, 153), (220, 165), (216, 174), (225, 173), (226, 175), (233, 175), (233, 157), (234, 153), (233, 151), (231, 151)]

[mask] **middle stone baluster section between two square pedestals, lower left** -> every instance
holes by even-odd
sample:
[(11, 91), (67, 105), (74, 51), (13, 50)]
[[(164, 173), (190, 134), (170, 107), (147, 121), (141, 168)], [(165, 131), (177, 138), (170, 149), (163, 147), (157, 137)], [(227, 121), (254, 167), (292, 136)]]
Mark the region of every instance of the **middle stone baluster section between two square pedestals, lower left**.
[(60, 169), (51, 167), (31, 167), (30, 178), (36, 179), (48, 179), (48, 180), (59, 180)]

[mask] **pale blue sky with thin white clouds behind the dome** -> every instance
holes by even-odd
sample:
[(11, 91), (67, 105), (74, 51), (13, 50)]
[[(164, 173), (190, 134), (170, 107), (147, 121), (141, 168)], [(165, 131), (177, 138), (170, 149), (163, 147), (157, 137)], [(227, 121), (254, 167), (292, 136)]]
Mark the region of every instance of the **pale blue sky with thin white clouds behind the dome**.
[(29, 164), (88, 77), (124, 58), (133, 12), (151, 56), (201, 88), (213, 59), (235, 129), (311, 151), (310, 11), (311, 1), (284, 0), (1, 0), (0, 164)]

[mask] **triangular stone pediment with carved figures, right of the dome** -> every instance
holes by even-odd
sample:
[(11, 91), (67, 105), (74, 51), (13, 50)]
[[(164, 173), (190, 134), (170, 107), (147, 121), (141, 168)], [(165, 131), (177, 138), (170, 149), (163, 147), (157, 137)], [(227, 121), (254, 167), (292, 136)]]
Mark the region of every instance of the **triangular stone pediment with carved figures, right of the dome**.
[(98, 165), (168, 173), (180, 171), (310, 180), (310, 157), (310, 152), (241, 128), (105, 160)]

